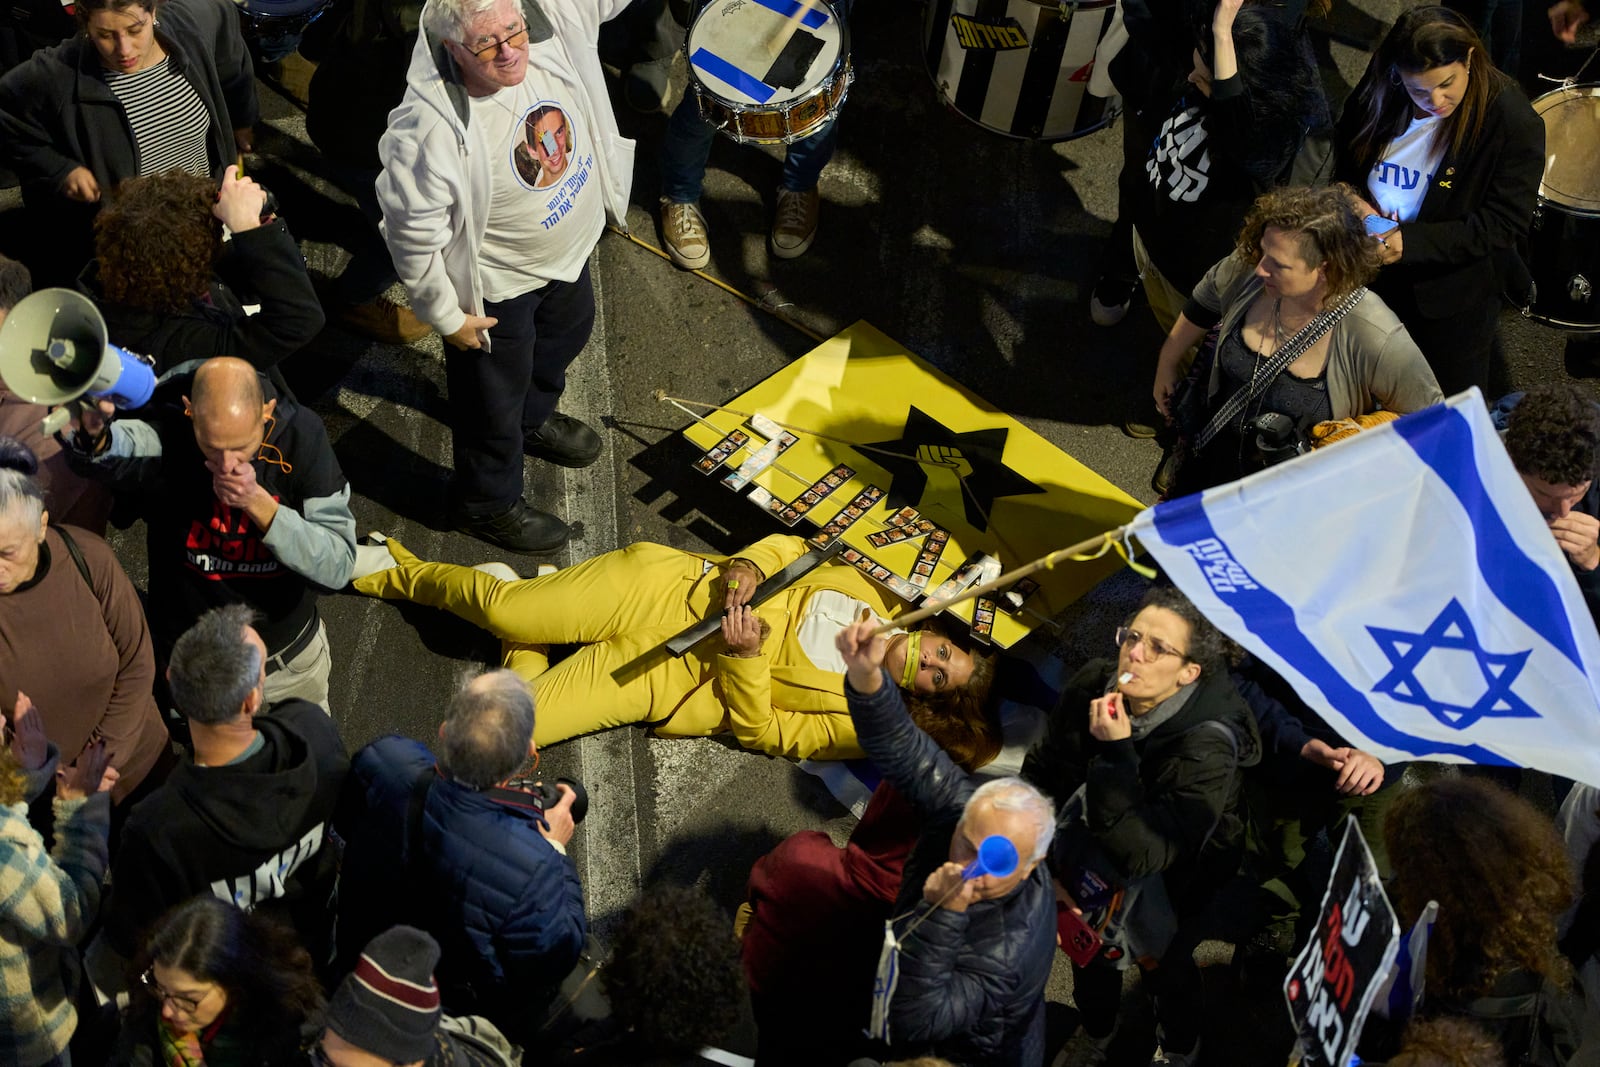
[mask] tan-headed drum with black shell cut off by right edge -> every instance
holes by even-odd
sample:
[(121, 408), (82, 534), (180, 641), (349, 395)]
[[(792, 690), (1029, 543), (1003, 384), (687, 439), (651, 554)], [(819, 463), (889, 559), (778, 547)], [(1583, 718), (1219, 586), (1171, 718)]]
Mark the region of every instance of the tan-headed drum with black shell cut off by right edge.
[(1523, 315), (1600, 331), (1600, 85), (1533, 101), (1544, 120), (1544, 179), (1528, 235), (1533, 302)]

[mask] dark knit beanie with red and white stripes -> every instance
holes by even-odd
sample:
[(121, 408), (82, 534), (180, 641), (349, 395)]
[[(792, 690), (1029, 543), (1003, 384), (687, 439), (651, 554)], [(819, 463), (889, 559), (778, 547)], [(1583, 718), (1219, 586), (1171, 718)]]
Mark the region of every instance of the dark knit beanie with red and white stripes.
[(378, 934), (334, 990), (328, 1029), (394, 1064), (427, 1059), (440, 1014), (435, 963), (438, 942), (421, 929), (392, 926)]

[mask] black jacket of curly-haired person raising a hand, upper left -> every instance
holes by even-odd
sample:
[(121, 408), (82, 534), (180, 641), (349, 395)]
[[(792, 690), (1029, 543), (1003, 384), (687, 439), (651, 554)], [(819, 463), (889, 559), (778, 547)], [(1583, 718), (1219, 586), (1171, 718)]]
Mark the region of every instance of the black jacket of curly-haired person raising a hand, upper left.
[[(98, 267), (91, 262), (85, 269), (78, 288), (101, 309), (112, 344), (154, 358), (157, 374), (214, 355), (234, 355), (266, 371), (299, 352), (325, 322), (306, 258), (283, 219), (222, 245), (210, 294), (184, 312), (107, 302)], [(261, 310), (246, 315), (246, 301)]]

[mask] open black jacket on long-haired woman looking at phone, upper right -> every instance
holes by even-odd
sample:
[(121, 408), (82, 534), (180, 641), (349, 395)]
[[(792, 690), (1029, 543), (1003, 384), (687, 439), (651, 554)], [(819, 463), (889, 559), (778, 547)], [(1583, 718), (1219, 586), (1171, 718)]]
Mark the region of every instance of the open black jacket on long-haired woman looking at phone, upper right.
[[(1350, 152), (1362, 115), (1346, 109), (1334, 139), (1334, 176), (1368, 195), (1370, 168)], [(1384, 267), (1373, 290), (1394, 293), (1427, 318), (1450, 320), (1459, 312), (1499, 306), (1498, 261), (1514, 254), (1533, 224), (1539, 179), (1544, 176), (1544, 123), (1515, 85), (1488, 102), (1477, 144), (1461, 155), (1446, 149), (1414, 222), (1400, 227), (1403, 251)], [(1477, 315), (1462, 318), (1472, 326)], [(1459, 347), (1477, 344), (1461, 338)], [(1430, 358), (1434, 354), (1429, 354)]]

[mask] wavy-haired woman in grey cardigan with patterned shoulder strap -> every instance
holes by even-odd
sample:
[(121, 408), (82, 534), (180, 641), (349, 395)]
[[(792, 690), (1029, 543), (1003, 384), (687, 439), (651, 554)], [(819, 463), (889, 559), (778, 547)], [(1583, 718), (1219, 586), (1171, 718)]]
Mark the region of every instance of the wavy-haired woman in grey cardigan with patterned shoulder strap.
[[(1182, 438), (1179, 470), (1157, 488), (1198, 493), (1259, 469), (1251, 427), (1266, 414), (1306, 434), (1328, 419), (1379, 406), (1405, 414), (1443, 398), (1405, 326), (1365, 288), (1381, 245), (1357, 203), (1342, 184), (1266, 194), (1234, 254), (1195, 286), (1155, 370), (1155, 405)], [(1184, 381), (1184, 354), (1211, 330), (1214, 347)]]

